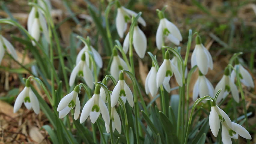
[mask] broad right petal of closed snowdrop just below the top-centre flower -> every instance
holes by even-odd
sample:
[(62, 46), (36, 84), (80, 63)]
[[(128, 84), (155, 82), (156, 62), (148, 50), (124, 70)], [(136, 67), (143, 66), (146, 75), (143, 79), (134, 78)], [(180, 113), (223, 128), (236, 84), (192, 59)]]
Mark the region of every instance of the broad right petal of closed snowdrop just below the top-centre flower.
[(147, 38), (145, 34), (139, 29), (139, 26), (134, 27), (133, 31), (133, 46), (140, 58), (144, 58), (147, 49)]

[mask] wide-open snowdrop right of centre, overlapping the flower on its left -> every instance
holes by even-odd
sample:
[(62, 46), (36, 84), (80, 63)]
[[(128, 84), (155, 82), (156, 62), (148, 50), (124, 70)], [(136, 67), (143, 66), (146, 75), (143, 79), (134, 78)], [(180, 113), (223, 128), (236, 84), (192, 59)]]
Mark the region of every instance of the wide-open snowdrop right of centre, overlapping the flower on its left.
[(181, 74), (179, 73), (179, 70), (170, 60), (170, 53), (168, 51), (165, 52), (165, 58), (163, 60), (163, 64), (159, 67), (159, 70), (157, 71), (157, 88), (160, 87), (161, 84), (163, 84), (163, 87), (166, 91), (170, 91), (170, 85), (169, 80), (172, 77), (172, 74), (174, 73), (176, 81), (178, 82), (178, 85), (182, 86), (182, 78)]

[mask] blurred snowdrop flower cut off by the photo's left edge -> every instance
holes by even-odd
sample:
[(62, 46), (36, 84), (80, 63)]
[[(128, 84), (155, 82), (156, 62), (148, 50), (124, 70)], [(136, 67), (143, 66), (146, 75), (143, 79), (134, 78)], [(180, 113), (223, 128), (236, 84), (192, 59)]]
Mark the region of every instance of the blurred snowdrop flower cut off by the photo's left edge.
[(0, 64), (5, 55), (5, 49), (11, 54), (11, 56), (17, 60), (18, 56), (13, 47), (13, 45), (5, 39), (2, 35), (0, 35)]

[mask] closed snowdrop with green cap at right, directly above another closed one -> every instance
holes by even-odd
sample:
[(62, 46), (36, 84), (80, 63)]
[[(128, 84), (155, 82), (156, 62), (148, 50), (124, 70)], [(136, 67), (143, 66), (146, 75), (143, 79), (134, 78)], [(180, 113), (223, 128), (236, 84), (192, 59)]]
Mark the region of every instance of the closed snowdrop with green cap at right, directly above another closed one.
[(197, 65), (203, 75), (207, 74), (208, 68), (213, 68), (212, 56), (203, 46), (199, 35), (196, 37), (196, 47), (191, 56), (191, 67), (194, 67), (195, 65)]

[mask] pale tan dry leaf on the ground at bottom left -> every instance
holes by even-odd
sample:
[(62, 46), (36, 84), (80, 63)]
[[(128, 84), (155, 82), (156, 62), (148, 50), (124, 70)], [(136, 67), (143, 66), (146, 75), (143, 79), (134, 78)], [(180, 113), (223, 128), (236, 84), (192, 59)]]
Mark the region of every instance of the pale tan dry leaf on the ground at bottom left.
[(29, 130), (29, 136), (31, 139), (40, 144), (47, 144), (47, 141), (44, 140), (44, 136), (40, 133), (37, 127), (32, 127)]

